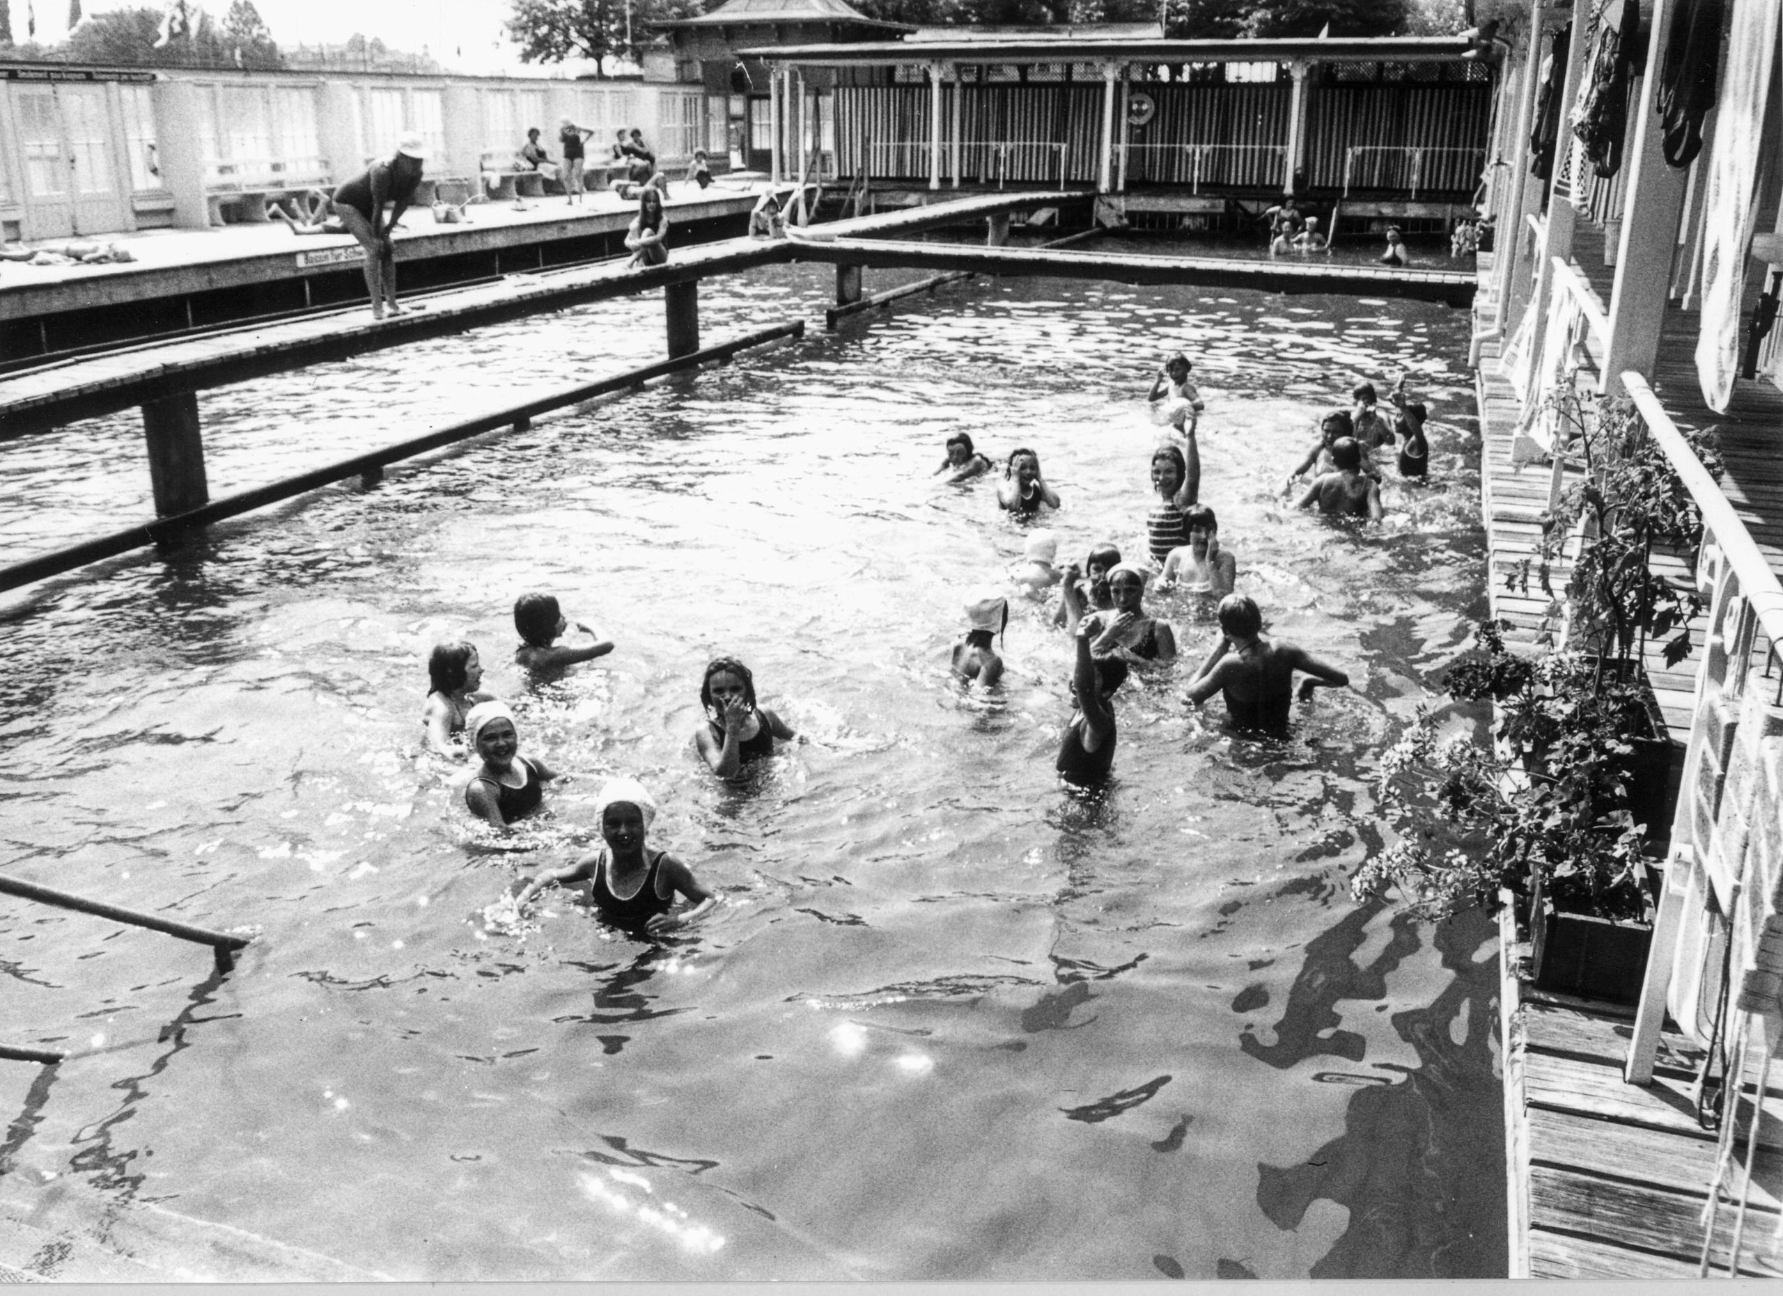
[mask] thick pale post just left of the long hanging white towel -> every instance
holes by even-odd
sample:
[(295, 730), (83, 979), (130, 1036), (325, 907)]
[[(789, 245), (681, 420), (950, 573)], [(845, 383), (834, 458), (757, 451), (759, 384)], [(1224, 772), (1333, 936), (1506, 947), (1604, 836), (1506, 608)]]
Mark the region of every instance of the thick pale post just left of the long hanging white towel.
[(1647, 39), (1647, 75), (1640, 78), (1635, 137), (1628, 150), (1628, 191), (1623, 201), (1623, 237), (1615, 251), (1615, 289), (1610, 296), (1610, 342), (1603, 360), (1603, 390), (1623, 394), (1623, 371), (1653, 378), (1660, 351), (1660, 326), (1671, 291), (1672, 255), (1678, 251), (1678, 217), (1683, 214), (1689, 168), (1671, 168), (1660, 148), (1662, 130), (1655, 114), (1658, 70), (1676, 0), (1655, 0)]

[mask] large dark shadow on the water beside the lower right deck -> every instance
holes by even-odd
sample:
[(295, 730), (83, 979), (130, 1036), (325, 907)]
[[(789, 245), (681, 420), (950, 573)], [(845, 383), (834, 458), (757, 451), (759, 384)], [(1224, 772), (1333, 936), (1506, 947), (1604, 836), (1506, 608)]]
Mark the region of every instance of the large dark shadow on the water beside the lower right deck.
[[(1387, 948), (1359, 968), (1350, 956), (1376, 911), (1357, 909), (1307, 947), (1277, 1025), (1278, 1043), (1264, 1046), (1245, 1036), (1246, 1054), (1278, 1068), (1323, 1054), (1362, 1059), (1360, 1036), (1334, 1029), (1334, 1005), (1380, 998), (1387, 973), (1419, 947), (1417, 923), (1398, 915)], [(1343, 1136), (1300, 1166), (1257, 1166), (1257, 1205), (1277, 1228), (1298, 1228), (1321, 1198), (1350, 1212), (1348, 1228), (1312, 1266), (1312, 1278), (1505, 1271), (1505, 1141), (1492, 1068), (1498, 959), (1473, 957), (1491, 936), (1491, 920), (1480, 913), (1435, 927), (1435, 950), (1453, 979), (1428, 1007), (1391, 1018), (1419, 1066), (1391, 1068), (1401, 1071), (1398, 1082), (1341, 1071), (1318, 1077), (1360, 1086)]]

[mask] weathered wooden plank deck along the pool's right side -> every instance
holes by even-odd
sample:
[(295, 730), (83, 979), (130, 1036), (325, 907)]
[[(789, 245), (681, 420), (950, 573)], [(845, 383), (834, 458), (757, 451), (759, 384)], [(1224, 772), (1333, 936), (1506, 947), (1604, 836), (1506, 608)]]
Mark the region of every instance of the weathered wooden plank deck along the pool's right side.
[[(1580, 269), (1594, 292), (1610, 294), (1612, 271), (1601, 241), (1582, 226)], [(1596, 235), (1601, 239), (1601, 235)], [(1694, 312), (1671, 308), (1653, 383), (1681, 428), (1715, 428), (1728, 472), (1722, 487), (1772, 562), (1783, 569), (1783, 392), (1771, 383), (1738, 385), (1731, 410), (1703, 405), (1696, 381)], [(1537, 515), (1546, 508), (1548, 471), (1510, 467), (1510, 433), (1519, 403), (1496, 374), (1496, 355), (1482, 357), (1482, 508), (1492, 570), (1491, 604), (1516, 626), (1514, 642), (1533, 644), (1546, 606), (1503, 588), (1503, 576), (1533, 551)], [(1681, 558), (1655, 565), (1678, 581), (1692, 579)], [(1564, 581), (1564, 570), (1557, 572)], [(1672, 740), (1690, 729), (1701, 651), (1701, 622), (1692, 656), (1665, 667), (1647, 654), (1647, 674)], [(1767, 651), (1758, 645), (1754, 651)], [(1649, 1087), (1623, 1080), (1633, 1029), (1631, 1009), (1535, 991), (1526, 977), (1528, 945), (1510, 911), (1501, 915), (1501, 1039), (1505, 1041), (1505, 1137), (1512, 1278), (1694, 1278), (1705, 1243), (1705, 1207), (1715, 1175), (1717, 1136), (1696, 1116), (1701, 1052), (1667, 1029)], [(1671, 1025), (1671, 1023), (1667, 1023)], [(1735, 1132), (1744, 1161), (1753, 1086), (1735, 1103)], [(1783, 1276), (1783, 1087), (1769, 1086), (1758, 1127), (1749, 1207), (1742, 1230), (1740, 1273)], [(1728, 1182), (1738, 1184), (1738, 1169)], [(1708, 1250), (1712, 1273), (1726, 1275), (1735, 1205), (1722, 1202)]]

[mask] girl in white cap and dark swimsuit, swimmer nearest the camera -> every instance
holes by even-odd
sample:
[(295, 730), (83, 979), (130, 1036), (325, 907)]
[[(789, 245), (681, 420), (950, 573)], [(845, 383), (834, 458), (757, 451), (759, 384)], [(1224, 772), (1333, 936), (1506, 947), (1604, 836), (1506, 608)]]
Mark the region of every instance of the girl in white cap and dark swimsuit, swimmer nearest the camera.
[[(569, 868), (538, 874), (514, 898), (515, 907), (547, 886), (592, 879), (590, 891), (603, 922), (654, 934), (690, 923), (719, 904), (719, 897), (694, 879), (694, 870), (667, 850), (645, 849), (645, 833), (656, 822), (656, 800), (642, 783), (612, 779), (601, 788), (594, 816), (606, 845)], [(676, 893), (692, 900), (694, 907), (674, 913)]]

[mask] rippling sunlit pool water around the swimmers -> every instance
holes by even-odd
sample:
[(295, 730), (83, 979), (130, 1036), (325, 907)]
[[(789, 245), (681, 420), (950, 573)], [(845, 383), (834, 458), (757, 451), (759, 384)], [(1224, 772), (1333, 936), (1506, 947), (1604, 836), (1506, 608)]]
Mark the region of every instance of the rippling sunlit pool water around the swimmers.
[[(706, 335), (829, 291), (708, 282)], [(209, 394), (212, 490), (644, 362), (660, 312)], [(1148, 595), (1184, 660), (1123, 690), (1114, 779), (1079, 797), (1047, 610), (1016, 604), (998, 693), (949, 679), (1025, 533), (931, 472), (956, 430), (1031, 446), (1061, 562), (1143, 553), (1143, 396), (1177, 348), (1239, 586), (1355, 688), (1232, 736), (1180, 702), (1212, 608)], [(975, 282), (11, 595), (0, 870), (257, 939), (219, 980), (200, 947), (0, 904), (0, 1039), (77, 1052), (0, 1064), (0, 1205), (392, 1278), (1501, 1275), (1492, 931), (1346, 886), (1382, 847), (1376, 758), (1483, 608), (1464, 353), (1432, 305)], [(1284, 504), (1316, 415), (1401, 369), (1430, 485), (1389, 472), (1373, 528)], [(143, 515), (136, 437), (7, 447), (7, 553)], [(524, 679), (530, 588), (617, 651)], [(424, 654), (458, 635), (571, 774), (510, 838), (421, 751)], [(692, 749), (719, 652), (804, 736), (735, 786)], [(594, 840), (613, 772), (719, 911), (661, 945), (565, 891), (492, 923)]]

